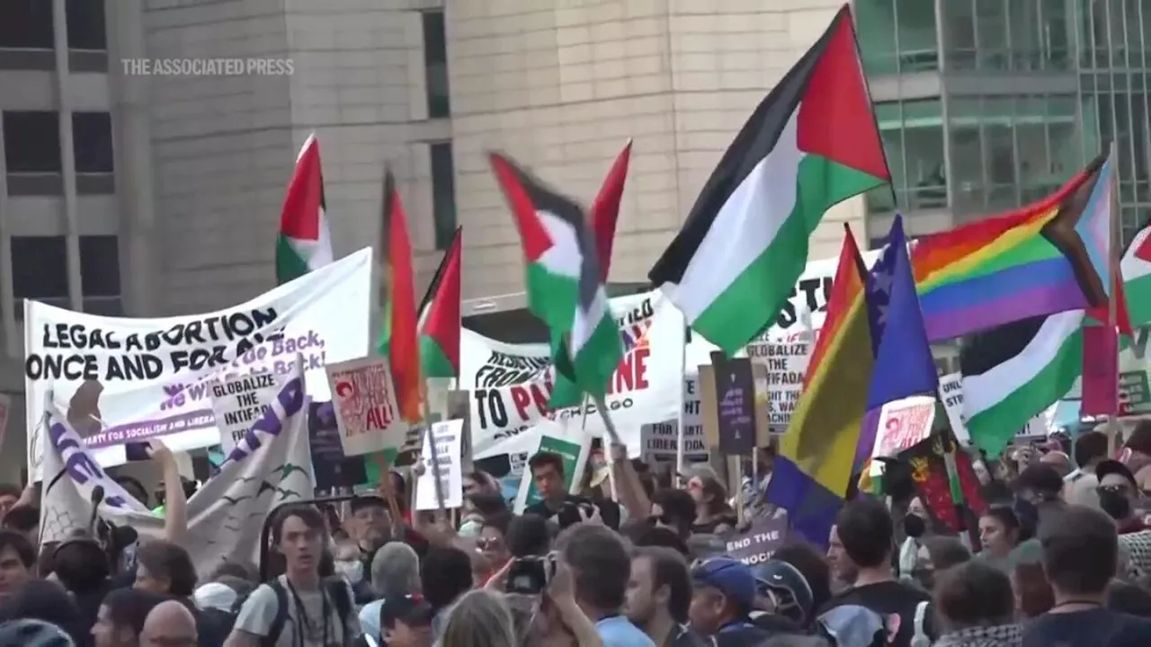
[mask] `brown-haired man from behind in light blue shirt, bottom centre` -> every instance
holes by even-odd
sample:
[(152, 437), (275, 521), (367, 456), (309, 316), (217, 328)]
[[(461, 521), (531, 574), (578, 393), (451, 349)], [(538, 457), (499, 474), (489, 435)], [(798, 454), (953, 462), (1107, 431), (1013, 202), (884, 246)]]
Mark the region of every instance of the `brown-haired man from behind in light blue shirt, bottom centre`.
[(557, 538), (556, 550), (571, 570), (576, 601), (605, 646), (654, 647), (650, 638), (620, 615), (632, 560), (616, 532), (602, 525), (579, 524)]

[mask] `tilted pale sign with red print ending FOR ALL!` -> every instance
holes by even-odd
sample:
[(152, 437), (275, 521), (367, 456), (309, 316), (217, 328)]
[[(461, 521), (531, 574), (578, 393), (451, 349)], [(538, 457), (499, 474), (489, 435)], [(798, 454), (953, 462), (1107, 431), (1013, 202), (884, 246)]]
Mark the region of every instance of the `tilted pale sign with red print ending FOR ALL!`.
[(405, 444), (409, 427), (399, 418), (386, 357), (328, 364), (327, 371), (344, 456), (399, 449)]

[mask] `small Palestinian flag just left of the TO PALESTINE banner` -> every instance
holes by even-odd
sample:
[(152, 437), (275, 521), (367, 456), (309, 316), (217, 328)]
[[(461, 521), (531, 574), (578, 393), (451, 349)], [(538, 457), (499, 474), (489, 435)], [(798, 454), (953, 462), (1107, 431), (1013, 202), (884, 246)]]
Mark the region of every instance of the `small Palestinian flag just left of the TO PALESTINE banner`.
[(420, 305), (420, 363), (425, 378), (459, 376), (462, 233), (457, 227)]

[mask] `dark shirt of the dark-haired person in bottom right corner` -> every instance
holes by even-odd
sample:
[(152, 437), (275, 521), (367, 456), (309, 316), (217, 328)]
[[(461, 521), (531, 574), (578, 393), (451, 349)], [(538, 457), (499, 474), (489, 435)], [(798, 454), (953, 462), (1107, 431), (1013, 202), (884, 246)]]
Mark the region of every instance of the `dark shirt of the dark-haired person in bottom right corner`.
[(1151, 619), (1111, 609), (1044, 614), (1023, 629), (1023, 647), (1148, 647)]

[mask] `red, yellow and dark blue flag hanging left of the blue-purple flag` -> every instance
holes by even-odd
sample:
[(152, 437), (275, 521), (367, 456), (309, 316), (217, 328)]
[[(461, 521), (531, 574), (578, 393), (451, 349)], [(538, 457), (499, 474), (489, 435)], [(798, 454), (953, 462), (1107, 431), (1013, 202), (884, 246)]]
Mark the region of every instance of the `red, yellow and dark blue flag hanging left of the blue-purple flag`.
[(828, 318), (767, 492), (768, 502), (787, 510), (792, 528), (816, 546), (828, 545), (847, 494), (875, 366), (866, 269), (855, 237), (845, 229)]

